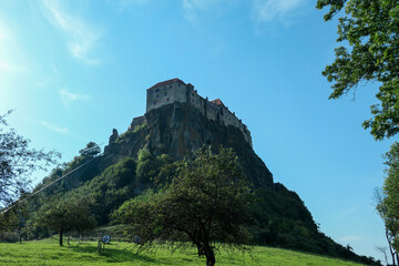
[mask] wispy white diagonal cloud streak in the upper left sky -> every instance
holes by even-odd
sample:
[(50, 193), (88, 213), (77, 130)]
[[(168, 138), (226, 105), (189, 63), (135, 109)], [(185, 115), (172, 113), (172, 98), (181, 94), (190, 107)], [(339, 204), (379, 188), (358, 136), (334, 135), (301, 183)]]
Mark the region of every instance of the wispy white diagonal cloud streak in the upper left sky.
[(93, 53), (102, 31), (90, 25), (82, 18), (68, 13), (59, 1), (45, 0), (44, 7), (47, 19), (66, 34), (71, 54), (81, 62), (99, 64), (100, 60)]

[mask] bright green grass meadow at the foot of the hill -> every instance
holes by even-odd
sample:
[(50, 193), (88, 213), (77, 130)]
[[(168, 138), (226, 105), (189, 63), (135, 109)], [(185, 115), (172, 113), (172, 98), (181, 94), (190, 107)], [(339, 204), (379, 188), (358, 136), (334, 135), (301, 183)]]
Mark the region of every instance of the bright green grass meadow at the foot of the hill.
[[(65, 242), (66, 244), (66, 242)], [(103, 256), (96, 253), (95, 242), (60, 247), (55, 238), (39, 242), (0, 244), (0, 265), (205, 265), (195, 249), (171, 253), (158, 247), (152, 253), (135, 253), (134, 244), (113, 243)], [(255, 247), (250, 255), (221, 252), (216, 265), (267, 265), (267, 266), (359, 266), (351, 262), (269, 247)]]

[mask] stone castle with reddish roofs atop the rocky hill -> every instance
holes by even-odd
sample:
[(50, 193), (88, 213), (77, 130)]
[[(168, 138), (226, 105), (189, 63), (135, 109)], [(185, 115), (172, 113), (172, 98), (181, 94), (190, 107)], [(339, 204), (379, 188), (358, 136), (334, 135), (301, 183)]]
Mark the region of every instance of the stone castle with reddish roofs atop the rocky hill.
[[(198, 95), (191, 83), (186, 84), (180, 79), (162, 81), (146, 90), (146, 112), (174, 102), (187, 103), (197, 109), (208, 120), (225, 126), (232, 125), (237, 127), (243, 133), (246, 142), (252, 146), (250, 132), (247, 126), (235, 115), (235, 112), (232, 113), (223, 104), (221, 99), (208, 101), (207, 98), (204, 99)], [(129, 130), (133, 130), (135, 125), (142, 124), (144, 120), (145, 116), (135, 117)]]

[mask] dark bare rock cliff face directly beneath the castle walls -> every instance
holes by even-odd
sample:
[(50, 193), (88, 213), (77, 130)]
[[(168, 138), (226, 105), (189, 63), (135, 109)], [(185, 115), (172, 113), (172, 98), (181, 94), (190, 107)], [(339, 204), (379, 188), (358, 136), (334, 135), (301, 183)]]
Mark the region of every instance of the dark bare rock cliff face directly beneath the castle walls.
[(196, 109), (177, 102), (150, 111), (143, 121), (141, 125), (132, 124), (126, 133), (117, 137), (113, 132), (102, 158), (103, 167), (122, 157), (136, 157), (140, 149), (146, 149), (154, 155), (165, 153), (180, 160), (191, 157), (193, 151), (203, 145), (211, 145), (213, 150), (223, 145), (234, 149), (244, 173), (254, 186), (273, 187), (270, 171), (238, 129), (209, 121)]

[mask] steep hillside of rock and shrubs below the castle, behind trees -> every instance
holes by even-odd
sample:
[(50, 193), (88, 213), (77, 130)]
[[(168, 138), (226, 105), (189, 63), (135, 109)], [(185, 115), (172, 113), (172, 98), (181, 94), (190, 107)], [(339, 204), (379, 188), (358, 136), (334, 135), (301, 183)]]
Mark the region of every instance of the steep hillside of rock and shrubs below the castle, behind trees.
[(185, 103), (175, 102), (152, 110), (135, 119), (130, 130), (121, 135), (113, 130), (102, 155), (76, 156), (66, 168), (54, 171), (39, 187), (88, 163), (44, 194), (62, 195), (75, 191), (91, 195), (95, 201), (93, 212), (98, 224), (106, 225), (110, 214), (124, 201), (152, 186), (158, 167), (171, 161), (193, 157), (193, 151), (204, 145), (216, 152), (221, 145), (236, 152), (256, 194), (250, 209), (253, 221), (247, 226), (254, 243), (378, 265), (320, 233), (300, 197), (274, 183), (272, 173), (237, 127), (211, 121)]

